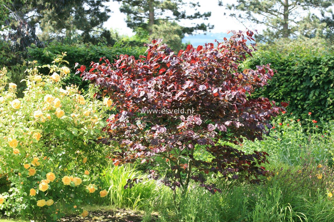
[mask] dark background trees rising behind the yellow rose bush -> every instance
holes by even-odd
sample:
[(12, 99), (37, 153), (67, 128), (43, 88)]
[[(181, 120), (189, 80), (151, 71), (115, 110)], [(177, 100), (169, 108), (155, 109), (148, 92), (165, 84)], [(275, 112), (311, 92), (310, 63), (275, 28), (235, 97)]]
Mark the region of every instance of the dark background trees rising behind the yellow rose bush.
[[(23, 51), (31, 43), (40, 44), (40, 39), (75, 35), (88, 42), (94, 32), (108, 37), (102, 24), (108, 20), (110, 9), (103, 7), (104, 2), (107, 0), (5, 1), (3, 7), (9, 11), (9, 18), (5, 21), (8, 28), (3, 38), (11, 43), (13, 51)], [(37, 28), (43, 32), (40, 36), (36, 34)]]

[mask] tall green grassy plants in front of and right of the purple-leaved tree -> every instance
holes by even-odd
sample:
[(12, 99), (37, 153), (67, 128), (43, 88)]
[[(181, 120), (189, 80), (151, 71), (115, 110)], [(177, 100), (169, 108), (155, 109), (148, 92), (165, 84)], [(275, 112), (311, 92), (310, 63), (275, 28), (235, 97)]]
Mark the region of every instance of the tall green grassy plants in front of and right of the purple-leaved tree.
[[(174, 206), (172, 192), (163, 188), (159, 199), (147, 209), (144, 221), (150, 221), (153, 212), (158, 212), (161, 222), (334, 221), (334, 199), (327, 197), (327, 188), (334, 189), (328, 183), (334, 181), (332, 168), (307, 163), (276, 172), (261, 184), (228, 186), (223, 180), (212, 180), (222, 189), (214, 195), (192, 186), (187, 197), (178, 200), (179, 206)], [(318, 179), (319, 174), (322, 179)]]

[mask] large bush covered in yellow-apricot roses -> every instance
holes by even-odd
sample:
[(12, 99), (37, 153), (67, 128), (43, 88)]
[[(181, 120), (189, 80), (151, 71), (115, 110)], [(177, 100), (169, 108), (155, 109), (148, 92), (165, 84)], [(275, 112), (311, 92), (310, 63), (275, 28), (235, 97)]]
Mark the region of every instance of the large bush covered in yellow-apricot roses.
[[(27, 70), (23, 98), (0, 70), (0, 211), (57, 220), (72, 210), (86, 214), (109, 154), (96, 138), (104, 136), (105, 102), (91, 88), (80, 93), (64, 86), (70, 70), (60, 65)], [(48, 68), (43, 75), (38, 68)], [(96, 163), (99, 163), (98, 165)], [(59, 210), (61, 209), (61, 210)]]

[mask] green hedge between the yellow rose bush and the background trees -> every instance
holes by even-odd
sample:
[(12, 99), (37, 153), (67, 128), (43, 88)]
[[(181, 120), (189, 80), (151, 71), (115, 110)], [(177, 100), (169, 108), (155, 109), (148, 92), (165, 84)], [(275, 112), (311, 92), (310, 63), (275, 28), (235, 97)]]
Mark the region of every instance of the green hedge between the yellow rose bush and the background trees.
[[(101, 57), (106, 57), (109, 61), (114, 61), (117, 55), (128, 54), (139, 58), (145, 52), (145, 47), (130, 47), (115, 44), (114, 46), (106, 46), (103, 44), (63, 44), (60, 42), (50, 42), (44, 48), (31, 46), (28, 48), (28, 60), (36, 60), (37, 65), (50, 64), (56, 55), (67, 52), (64, 58), (69, 62), (68, 68), (71, 69), (71, 78), (67, 84), (76, 84), (82, 89), (87, 89), (88, 83), (82, 82), (79, 75), (75, 73), (75, 63), (89, 67), (91, 62), (99, 62)], [(43, 70), (42, 70), (43, 71)]]

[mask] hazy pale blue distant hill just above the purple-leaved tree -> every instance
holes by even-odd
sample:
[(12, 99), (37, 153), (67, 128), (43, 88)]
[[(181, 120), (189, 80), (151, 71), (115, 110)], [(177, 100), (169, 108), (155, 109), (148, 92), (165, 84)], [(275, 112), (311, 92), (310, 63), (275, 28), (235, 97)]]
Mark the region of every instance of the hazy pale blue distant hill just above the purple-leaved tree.
[(208, 33), (208, 34), (196, 34), (196, 35), (189, 35), (182, 39), (183, 43), (189, 43), (193, 45), (194, 47), (197, 47), (199, 45), (204, 45), (205, 43), (214, 43), (214, 40), (218, 40), (219, 42), (223, 41), (223, 38), (229, 38), (231, 36), (230, 34), (226, 33)]

